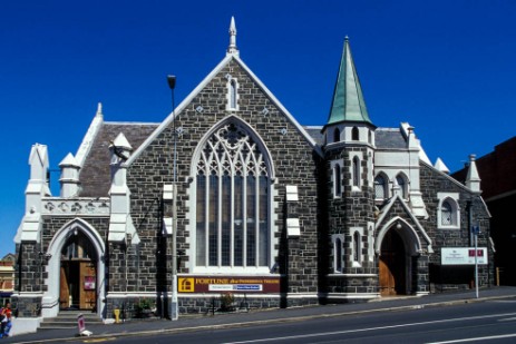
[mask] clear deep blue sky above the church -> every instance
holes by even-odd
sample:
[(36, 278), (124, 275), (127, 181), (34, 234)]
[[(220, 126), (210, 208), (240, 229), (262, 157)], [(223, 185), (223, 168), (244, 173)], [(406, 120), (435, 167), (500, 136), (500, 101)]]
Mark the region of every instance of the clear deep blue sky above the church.
[(224, 57), (231, 16), (242, 59), (302, 125), (328, 119), (348, 35), (372, 121), (410, 122), (432, 163), (457, 170), (515, 135), (516, 1), (1, 1), (0, 256), (31, 145), (57, 169), (98, 101), (107, 121), (162, 121), (166, 75), (178, 104)]

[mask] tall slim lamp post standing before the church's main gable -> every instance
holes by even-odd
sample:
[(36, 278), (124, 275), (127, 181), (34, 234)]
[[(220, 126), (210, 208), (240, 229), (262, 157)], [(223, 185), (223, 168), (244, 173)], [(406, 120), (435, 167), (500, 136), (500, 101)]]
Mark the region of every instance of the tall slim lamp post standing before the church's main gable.
[(174, 89), (176, 77), (167, 76), (168, 87), (172, 90), (172, 136), (173, 136), (173, 181), (172, 181), (172, 302), (171, 320), (177, 321), (179, 317), (177, 305), (177, 132), (176, 114), (174, 102)]

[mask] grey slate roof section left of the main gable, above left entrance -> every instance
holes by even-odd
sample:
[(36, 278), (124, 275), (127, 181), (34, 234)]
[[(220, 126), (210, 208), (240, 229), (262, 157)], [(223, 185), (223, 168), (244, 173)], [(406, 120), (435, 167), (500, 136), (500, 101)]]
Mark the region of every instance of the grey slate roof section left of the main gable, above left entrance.
[(110, 188), (109, 142), (124, 132), (133, 150), (158, 127), (158, 124), (103, 122), (80, 169), (80, 197), (107, 197)]

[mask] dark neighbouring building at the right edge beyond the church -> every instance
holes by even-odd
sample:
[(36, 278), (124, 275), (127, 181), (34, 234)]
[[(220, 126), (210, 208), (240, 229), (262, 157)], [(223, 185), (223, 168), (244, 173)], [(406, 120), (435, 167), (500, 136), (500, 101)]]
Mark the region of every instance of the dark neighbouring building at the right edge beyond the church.
[[(478, 158), (476, 166), (483, 177), (480, 187), (490, 218), (490, 236), (495, 243), (497, 283), (516, 285), (516, 228), (512, 222), (512, 209), (516, 204), (516, 137), (497, 146), (491, 153)], [(466, 180), (469, 165), (455, 173), (457, 180)]]

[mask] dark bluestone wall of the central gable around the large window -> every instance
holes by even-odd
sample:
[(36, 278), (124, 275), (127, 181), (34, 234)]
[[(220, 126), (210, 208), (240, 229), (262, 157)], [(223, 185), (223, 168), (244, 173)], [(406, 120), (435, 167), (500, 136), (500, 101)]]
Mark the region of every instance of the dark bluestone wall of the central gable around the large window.
[[(226, 110), (227, 79), (231, 75), (238, 81), (238, 110)], [(197, 111), (202, 107), (202, 112)], [(267, 109), (264, 114), (263, 109)], [(207, 131), (230, 115), (247, 124), (260, 138), (272, 157), (275, 180), (273, 183), (274, 208), (272, 218), (278, 245), (276, 249), (288, 249), (280, 253), (280, 269), (288, 274), (283, 278), (282, 288), (289, 293), (318, 292), (318, 164), (319, 156), (313, 147), (301, 135), (291, 120), (275, 107), (263, 90), (255, 83), (245, 70), (234, 60), (223, 68), (201, 92), (177, 115), (176, 128), (182, 127), (183, 134), (177, 137), (177, 180), (178, 180), (178, 250), (185, 255), (178, 273), (191, 273), (185, 263), (189, 255), (195, 254), (195, 247), (189, 247), (188, 226), (188, 177), (194, 151)], [(285, 129), (285, 130), (283, 130)], [(172, 184), (173, 178), (173, 137), (172, 125), (139, 155), (128, 168), (127, 184), (132, 190), (132, 216), (142, 243), (139, 261), (136, 252), (128, 250), (128, 279), (139, 278), (142, 283), (135, 291), (160, 292), (169, 289), (172, 279), (172, 245), (169, 238), (160, 234), (160, 216), (172, 216), (169, 205), (162, 207), (160, 197), (164, 184)], [(285, 186), (296, 185), (300, 200), (285, 205)], [(301, 223), (299, 238), (285, 238), (285, 212), (289, 216), (298, 216)], [(193, 227), (193, 226), (192, 226)], [(282, 246), (282, 247), (280, 247)], [(111, 254), (113, 255), (113, 254)], [(138, 262), (138, 265), (135, 265)], [(271, 266), (274, 262), (271, 262)], [(114, 265), (111, 264), (111, 268)], [(110, 284), (123, 284), (121, 276), (110, 273)], [(192, 311), (187, 299), (179, 297)], [(188, 305), (187, 305), (188, 304)], [(201, 311), (202, 306), (197, 311)], [(185, 309), (182, 309), (185, 311)]]

